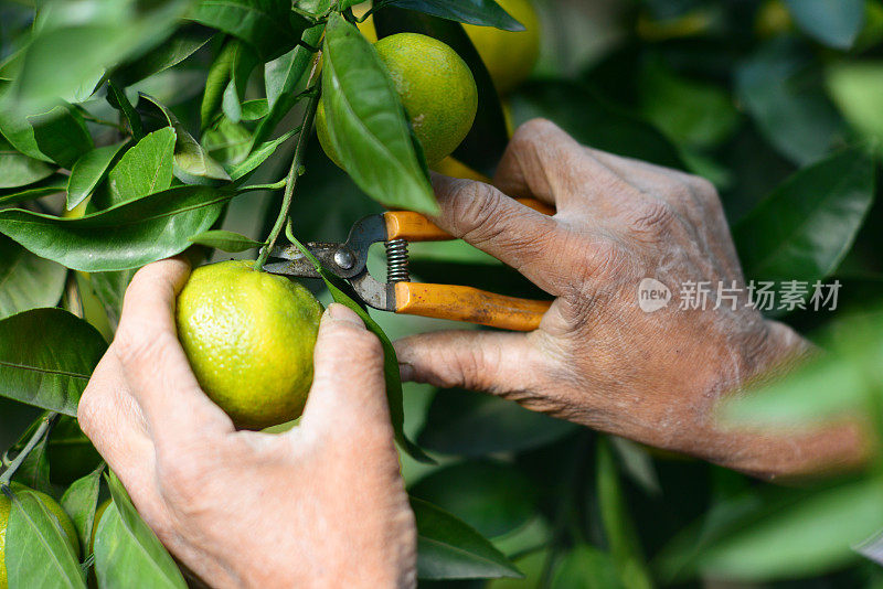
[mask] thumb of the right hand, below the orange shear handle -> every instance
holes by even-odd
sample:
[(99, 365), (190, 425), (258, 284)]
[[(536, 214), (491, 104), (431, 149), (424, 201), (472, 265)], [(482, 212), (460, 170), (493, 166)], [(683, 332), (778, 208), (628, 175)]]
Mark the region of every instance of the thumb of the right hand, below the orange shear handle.
[(437, 331), (395, 342), (403, 381), (507, 396), (531, 388), (534, 350), (523, 333)]

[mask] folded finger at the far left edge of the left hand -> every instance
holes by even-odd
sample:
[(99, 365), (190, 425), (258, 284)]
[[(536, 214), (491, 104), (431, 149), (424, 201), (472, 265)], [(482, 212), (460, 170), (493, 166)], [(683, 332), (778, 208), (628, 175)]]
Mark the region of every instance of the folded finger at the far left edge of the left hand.
[(127, 488), (152, 489), (153, 443), (114, 352), (104, 355), (89, 378), (79, 399), (77, 420)]

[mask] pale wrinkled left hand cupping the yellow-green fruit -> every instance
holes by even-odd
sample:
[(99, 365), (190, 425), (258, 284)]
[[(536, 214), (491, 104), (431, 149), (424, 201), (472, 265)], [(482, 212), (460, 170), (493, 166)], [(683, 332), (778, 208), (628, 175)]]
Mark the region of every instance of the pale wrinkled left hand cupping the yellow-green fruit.
[(79, 403), (83, 430), (145, 521), (213, 587), (411, 587), (416, 532), (398, 473), (377, 339), (322, 317), (300, 426), (236, 431), (178, 343), (184, 261), (141, 269)]

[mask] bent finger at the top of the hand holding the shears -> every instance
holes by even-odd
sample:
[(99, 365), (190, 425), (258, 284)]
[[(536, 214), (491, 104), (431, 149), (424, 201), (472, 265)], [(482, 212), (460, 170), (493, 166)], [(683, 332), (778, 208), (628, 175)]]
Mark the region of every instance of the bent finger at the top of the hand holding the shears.
[(510, 196), (534, 196), (554, 204), (558, 212), (618, 199), (624, 188), (615, 171), (545, 119), (530, 120), (515, 130), (493, 184)]

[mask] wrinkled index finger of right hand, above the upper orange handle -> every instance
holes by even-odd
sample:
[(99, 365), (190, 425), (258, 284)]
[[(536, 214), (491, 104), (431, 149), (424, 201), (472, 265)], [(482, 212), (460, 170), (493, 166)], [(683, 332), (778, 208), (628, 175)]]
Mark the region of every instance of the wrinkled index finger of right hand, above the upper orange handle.
[(553, 270), (562, 263), (562, 244), (554, 218), (524, 206), (489, 184), (433, 174), (433, 188), (442, 207), (433, 221), (529, 280), (558, 294)]

